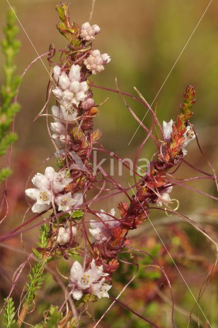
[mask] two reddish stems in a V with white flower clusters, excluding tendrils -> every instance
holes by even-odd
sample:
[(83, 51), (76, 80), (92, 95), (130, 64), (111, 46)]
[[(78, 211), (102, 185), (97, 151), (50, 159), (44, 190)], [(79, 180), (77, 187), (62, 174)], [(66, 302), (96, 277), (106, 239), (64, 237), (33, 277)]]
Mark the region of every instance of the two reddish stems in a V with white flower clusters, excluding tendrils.
[[(91, 74), (103, 71), (110, 57), (92, 49), (90, 42), (100, 32), (97, 25), (90, 26), (88, 22), (81, 28), (76, 23), (70, 25), (66, 3), (58, 6), (58, 12), (61, 12), (62, 23), (57, 28), (70, 41), (69, 51), (67, 48), (63, 50), (59, 62), (53, 67), (52, 93), (56, 106), (51, 109), (54, 122), (51, 122), (50, 127), (54, 132), (52, 138), (60, 171), (56, 173), (53, 168), (48, 167), (44, 175), (37, 173), (32, 179), (36, 188), (27, 189), (26, 194), (35, 200), (33, 212), (51, 210), (55, 223), (62, 218), (51, 236), (55, 244), (63, 249), (68, 247), (71, 238), (76, 238), (78, 229), (76, 220), (73, 219), (74, 211), (81, 209), (86, 203), (86, 191), (100, 182), (89, 159), (93, 144), (100, 138), (101, 132), (92, 131), (93, 117), (98, 110), (88, 78)], [(90, 221), (92, 243), (89, 241), (91, 249), (84, 267), (74, 261), (70, 271), (69, 287), (73, 299), (81, 300), (86, 294), (98, 298), (109, 297), (107, 291), (111, 285), (106, 282), (111, 282), (110, 277), (118, 268), (117, 254), (129, 242), (128, 231), (148, 218), (149, 203), (158, 207), (163, 204), (168, 206), (170, 203), (172, 186), (166, 173), (182, 161), (187, 153), (185, 147), (195, 136), (188, 125), (188, 119), (192, 115), (190, 108), (195, 101), (193, 97), (194, 88), (188, 86), (181, 105), (182, 112), (176, 122), (164, 121), (164, 141), (157, 159), (150, 162), (149, 173), (136, 185), (136, 193), (129, 197), (129, 203), (124, 201), (118, 204), (120, 218), (115, 217), (114, 209), (109, 213), (103, 210), (94, 212), (86, 204), (86, 211), (94, 214), (98, 221)], [(67, 226), (66, 218), (71, 223), (70, 227)], [(84, 226), (81, 230), (88, 239)]]

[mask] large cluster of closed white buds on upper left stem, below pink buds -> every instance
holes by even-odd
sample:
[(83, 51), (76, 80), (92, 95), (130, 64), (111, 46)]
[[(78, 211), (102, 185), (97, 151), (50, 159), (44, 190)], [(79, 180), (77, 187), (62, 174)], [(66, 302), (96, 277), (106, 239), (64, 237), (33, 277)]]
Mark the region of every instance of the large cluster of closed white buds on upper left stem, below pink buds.
[[(58, 75), (59, 69), (54, 67), (55, 76)], [(60, 74), (60, 72), (59, 72)], [(58, 86), (52, 90), (54, 96), (63, 103), (63, 105), (75, 104), (78, 106), (80, 101), (86, 98), (88, 84), (86, 81), (80, 82), (80, 66), (72, 65), (69, 75), (63, 72), (58, 76)]]

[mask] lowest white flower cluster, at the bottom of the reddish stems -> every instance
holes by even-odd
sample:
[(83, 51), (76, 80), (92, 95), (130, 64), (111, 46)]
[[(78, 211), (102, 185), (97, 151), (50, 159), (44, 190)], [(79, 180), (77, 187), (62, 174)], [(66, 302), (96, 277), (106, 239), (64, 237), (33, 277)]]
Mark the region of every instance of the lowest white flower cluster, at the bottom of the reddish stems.
[[(108, 297), (106, 293), (110, 289), (103, 285), (104, 278), (98, 281), (102, 276), (107, 276), (108, 273), (104, 273), (101, 267), (96, 267), (94, 259), (91, 262), (91, 269), (84, 272), (82, 265), (75, 261), (70, 270), (70, 287), (73, 289), (72, 296), (74, 299), (81, 299), (83, 293), (90, 293), (90, 287), (93, 294), (101, 297)], [(104, 291), (104, 295), (101, 292)], [(100, 297), (100, 296), (98, 296)]]

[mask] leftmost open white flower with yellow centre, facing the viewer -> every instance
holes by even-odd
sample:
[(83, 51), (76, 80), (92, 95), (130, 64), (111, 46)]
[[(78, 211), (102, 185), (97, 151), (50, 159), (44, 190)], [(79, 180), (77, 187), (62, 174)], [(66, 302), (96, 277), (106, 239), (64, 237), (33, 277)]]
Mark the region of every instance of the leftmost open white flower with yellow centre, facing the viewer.
[(33, 213), (41, 213), (50, 208), (51, 203), (51, 192), (46, 188), (29, 188), (25, 190), (28, 197), (36, 200), (32, 206)]

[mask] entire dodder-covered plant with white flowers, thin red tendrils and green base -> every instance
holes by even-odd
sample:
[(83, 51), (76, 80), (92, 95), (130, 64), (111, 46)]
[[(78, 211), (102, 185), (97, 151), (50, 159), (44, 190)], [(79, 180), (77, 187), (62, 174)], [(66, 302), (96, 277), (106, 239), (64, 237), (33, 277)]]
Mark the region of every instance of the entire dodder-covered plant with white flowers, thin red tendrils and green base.
[[(187, 153), (187, 144), (195, 138), (195, 132), (189, 121), (195, 103), (193, 86), (189, 85), (185, 91), (180, 114), (174, 121), (172, 119), (169, 122), (164, 121), (163, 127), (143, 97), (142, 99), (134, 97), (147, 107), (152, 115), (150, 130), (135, 116), (124, 99), (124, 95), (131, 95), (122, 93), (117, 87), (115, 92), (120, 93), (128, 110), (147, 132), (133, 166), (134, 185), (125, 189), (99, 163), (92, 164), (93, 150), (109, 152), (97, 141), (102, 132), (98, 129), (93, 131), (93, 118), (98, 113), (99, 106), (93, 99), (95, 86), (90, 76), (103, 71), (110, 57), (92, 48), (92, 41), (100, 32), (100, 27), (91, 26), (89, 22), (81, 27), (75, 22), (71, 23), (69, 5), (66, 2), (57, 5), (56, 10), (61, 18), (57, 29), (67, 38), (69, 44), (62, 50), (50, 46), (49, 51), (38, 59), (47, 55), (48, 63), (52, 68), (44, 110), (46, 110), (49, 136), (55, 147), (58, 168), (49, 166), (44, 174), (37, 173), (32, 178), (34, 188), (28, 188), (26, 195), (33, 200), (31, 210), (36, 216), (1, 239), (13, 236), (17, 230), (24, 228), (38, 216), (49, 214), (47, 223), (41, 227), (37, 248), (32, 250), (32, 254), (23, 263), (24, 267), (31, 257), (35, 259), (19, 305), (20, 311), (16, 323), (18, 327), (24, 325), (27, 313), (34, 311), (37, 291), (44, 282), (44, 271), (45, 269), (52, 271), (48, 263), (51, 261), (58, 263), (58, 259), (61, 258), (73, 262), (66, 285), (61, 279), (62, 274), (58, 276), (53, 273), (62, 286), (63, 300), (60, 304), (52, 304), (44, 313), (44, 320), (35, 327), (78, 327), (83, 312), (88, 313), (90, 303), (102, 297), (110, 297), (130, 310), (127, 305), (109, 296), (109, 290), (113, 286), (113, 273), (120, 265), (118, 255), (127, 253), (128, 263), (138, 268), (132, 257), (134, 249), (129, 247), (129, 231), (149, 219), (150, 207), (163, 207), (166, 213), (176, 213), (170, 207), (172, 201), (169, 194), (177, 182), (168, 172), (170, 169), (173, 169), (170, 171), (173, 172), (180, 166)], [(54, 61), (56, 54), (58, 54), (57, 62)], [(49, 129), (48, 117), (51, 114), (48, 103), (51, 96), (55, 105), (51, 108), (53, 122)], [(42, 115), (42, 112), (37, 117)], [(161, 139), (157, 137), (156, 128), (160, 130)], [(152, 134), (153, 129), (155, 136)], [(149, 162), (147, 170), (141, 169), (138, 173), (136, 161), (149, 138), (154, 141), (157, 152)], [(116, 155), (113, 156), (117, 160), (120, 159)], [(131, 169), (125, 161), (122, 161), (122, 164)], [(90, 199), (89, 191), (92, 189), (97, 190), (97, 193), (93, 199)], [(111, 190), (111, 193), (101, 196), (106, 190)], [(115, 216), (113, 208), (110, 212), (100, 211), (98, 208), (91, 209), (91, 205), (93, 207), (97, 200), (120, 193), (128, 199), (116, 204), (120, 217)], [(87, 221), (87, 215), (91, 215), (93, 219)], [(87, 224), (89, 224), (88, 229)], [(81, 258), (81, 263), (74, 260), (75, 255), (77, 259)], [(167, 279), (172, 295), (170, 281), (164, 269), (152, 256), (151, 258)], [(19, 275), (20, 273), (15, 280)], [(10, 298), (14, 285), (5, 301), (8, 327), (15, 324), (13, 301)], [(130, 311), (157, 327), (145, 317)], [(172, 325), (175, 327), (173, 311)]]

